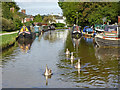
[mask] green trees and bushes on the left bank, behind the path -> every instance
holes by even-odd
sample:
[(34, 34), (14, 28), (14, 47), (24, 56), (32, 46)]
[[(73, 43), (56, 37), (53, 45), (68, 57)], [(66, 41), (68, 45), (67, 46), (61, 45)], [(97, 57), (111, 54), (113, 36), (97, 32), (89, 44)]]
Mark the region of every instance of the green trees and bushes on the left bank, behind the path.
[[(13, 8), (14, 10), (10, 10)], [(20, 8), (16, 5), (16, 2), (2, 2), (2, 30), (3, 31), (15, 31), (22, 26), (21, 18), (25, 17), (22, 13), (18, 12)]]

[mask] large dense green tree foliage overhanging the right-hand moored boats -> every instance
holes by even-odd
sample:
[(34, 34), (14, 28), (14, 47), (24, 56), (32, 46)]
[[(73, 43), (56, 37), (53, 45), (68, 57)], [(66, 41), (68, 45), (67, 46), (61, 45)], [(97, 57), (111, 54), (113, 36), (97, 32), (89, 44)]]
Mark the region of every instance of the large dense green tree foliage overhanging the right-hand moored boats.
[(58, 4), (68, 24), (76, 24), (78, 17), (78, 25), (81, 26), (102, 24), (104, 17), (112, 23), (117, 22), (120, 5), (118, 2), (58, 2)]

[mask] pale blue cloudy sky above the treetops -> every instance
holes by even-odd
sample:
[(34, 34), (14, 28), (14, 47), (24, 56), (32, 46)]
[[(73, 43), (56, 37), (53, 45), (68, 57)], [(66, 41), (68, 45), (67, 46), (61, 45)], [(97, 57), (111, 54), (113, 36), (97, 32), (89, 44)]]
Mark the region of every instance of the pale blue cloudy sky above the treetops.
[(58, 13), (62, 14), (62, 10), (57, 0), (14, 0), (21, 9), (26, 9), (27, 15), (47, 15)]

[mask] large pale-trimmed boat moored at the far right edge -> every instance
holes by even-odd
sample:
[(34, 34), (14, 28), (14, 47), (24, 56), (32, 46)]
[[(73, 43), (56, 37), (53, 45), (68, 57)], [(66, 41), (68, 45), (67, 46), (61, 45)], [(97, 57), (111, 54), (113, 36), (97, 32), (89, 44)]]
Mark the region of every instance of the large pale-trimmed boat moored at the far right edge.
[(103, 33), (95, 36), (99, 47), (120, 47), (120, 28), (118, 25), (106, 25)]

